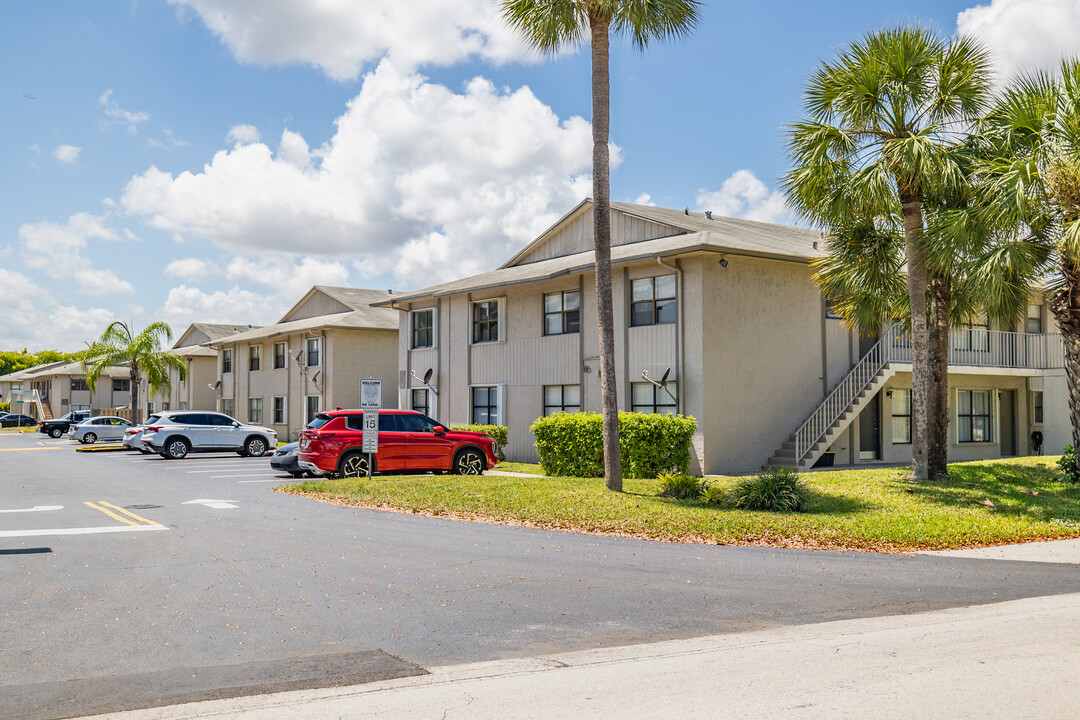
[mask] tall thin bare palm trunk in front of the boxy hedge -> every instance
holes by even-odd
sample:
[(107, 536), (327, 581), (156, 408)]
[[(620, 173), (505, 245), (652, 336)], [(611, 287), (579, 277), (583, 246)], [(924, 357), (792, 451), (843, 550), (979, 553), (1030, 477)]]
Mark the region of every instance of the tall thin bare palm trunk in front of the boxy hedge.
[(615, 372), (615, 311), (611, 300), (610, 18), (591, 15), (593, 62), (593, 235), (596, 255), (596, 313), (600, 341), (600, 407), (604, 413), (604, 478), (608, 490), (622, 492), (619, 456), (619, 388)]

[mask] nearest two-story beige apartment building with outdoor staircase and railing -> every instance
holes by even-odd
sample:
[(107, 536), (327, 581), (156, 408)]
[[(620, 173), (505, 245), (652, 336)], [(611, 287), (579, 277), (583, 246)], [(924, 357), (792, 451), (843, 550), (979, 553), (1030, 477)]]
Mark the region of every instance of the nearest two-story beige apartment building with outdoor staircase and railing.
[[(592, 212), (582, 202), (495, 271), (382, 303), (401, 313), (403, 407), (507, 425), (514, 460), (536, 459), (536, 418), (599, 410)], [(812, 464), (827, 449), (909, 460), (906, 340), (860, 338), (832, 316), (810, 267), (820, 233), (625, 203), (611, 204), (611, 228), (621, 409), (696, 418), (710, 474)], [(1049, 323), (1034, 303), (1017, 331), (958, 328), (951, 457), (1026, 453), (1034, 431), (1061, 451)]]

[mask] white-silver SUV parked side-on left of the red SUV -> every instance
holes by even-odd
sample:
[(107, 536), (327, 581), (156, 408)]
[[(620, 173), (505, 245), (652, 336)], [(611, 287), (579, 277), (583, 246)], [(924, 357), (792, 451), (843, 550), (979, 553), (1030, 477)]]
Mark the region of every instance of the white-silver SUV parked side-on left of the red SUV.
[(278, 447), (278, 433), (261, 425), (245, 425), (220, 412), (177, 410), (159, 413), (148, 424), (139, 445), (166, 460), (179, 460), (189, 452), (232, 450), (258, 458)]

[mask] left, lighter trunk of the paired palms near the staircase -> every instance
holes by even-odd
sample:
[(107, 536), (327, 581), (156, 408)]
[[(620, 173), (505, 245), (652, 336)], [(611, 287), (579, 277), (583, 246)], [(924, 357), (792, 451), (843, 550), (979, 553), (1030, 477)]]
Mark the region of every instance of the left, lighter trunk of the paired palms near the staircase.
[(922, 241), (922, 194), (901, 188), (904, 210), (904, 252), (907, 255), (907, 297), (912, 304), (912, 477), (929, 475), (927, 441), (932, 378), (927, 337), (927, 254)]

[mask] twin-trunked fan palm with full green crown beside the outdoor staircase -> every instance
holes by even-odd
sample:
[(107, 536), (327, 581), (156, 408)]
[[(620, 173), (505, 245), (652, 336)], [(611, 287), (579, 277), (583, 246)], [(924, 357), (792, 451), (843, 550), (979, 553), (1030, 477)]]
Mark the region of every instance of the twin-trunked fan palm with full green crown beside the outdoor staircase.
[(964, 182), (956, 139), (988, 93), (987, 54), (974, 41), (945, 41), (919, 27), (879, 30), (814, 72), (805, 100), (810, 119), (788, 136), (793, 167), (784, 186), (804, 216), (834, 233), (902, 229), (918, 479), (947, 477), (951, 312), (951, 279), (933, 272), (928, 257), (923, 202)]

